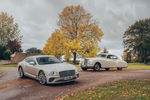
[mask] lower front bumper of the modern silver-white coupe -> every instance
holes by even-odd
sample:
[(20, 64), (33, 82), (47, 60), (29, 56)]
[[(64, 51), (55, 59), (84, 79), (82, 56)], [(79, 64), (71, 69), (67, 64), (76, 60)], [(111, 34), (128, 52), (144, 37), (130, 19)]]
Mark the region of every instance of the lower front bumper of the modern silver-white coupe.
[(60, 76), (48, 76), (47, 84), (66, 83), (79, 79), (79, 73), (74, 76), (60, 77)]

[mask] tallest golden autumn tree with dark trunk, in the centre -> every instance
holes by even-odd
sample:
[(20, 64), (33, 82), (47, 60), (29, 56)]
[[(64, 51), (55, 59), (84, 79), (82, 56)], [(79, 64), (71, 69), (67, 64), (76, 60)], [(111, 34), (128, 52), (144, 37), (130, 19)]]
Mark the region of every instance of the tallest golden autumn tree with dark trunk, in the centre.
[(96, 20), (82, 6), (65, 7), (59, 14), (58, 25), (64, 31), (67, 43), (72, 45), (68, 52), (72, 52), (74, 62), (77, 54), (82, 57), (96, 56), (103, 33)]

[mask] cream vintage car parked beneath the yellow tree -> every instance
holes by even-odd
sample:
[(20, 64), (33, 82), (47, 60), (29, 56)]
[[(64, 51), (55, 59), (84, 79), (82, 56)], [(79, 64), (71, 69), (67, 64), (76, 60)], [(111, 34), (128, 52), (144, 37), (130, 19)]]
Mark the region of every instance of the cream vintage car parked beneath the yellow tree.
[(96, 58), (84, 58), (79, 62), (82, 70), (94, 69), (95, 71), (104, 68), (109, 70), (110, 68), (117, 68), (122, 70), (122, 68), (127, 68), (128, 65), (125, 61), (119, 59), (116, 55), (113, 54), (98, 54)]

